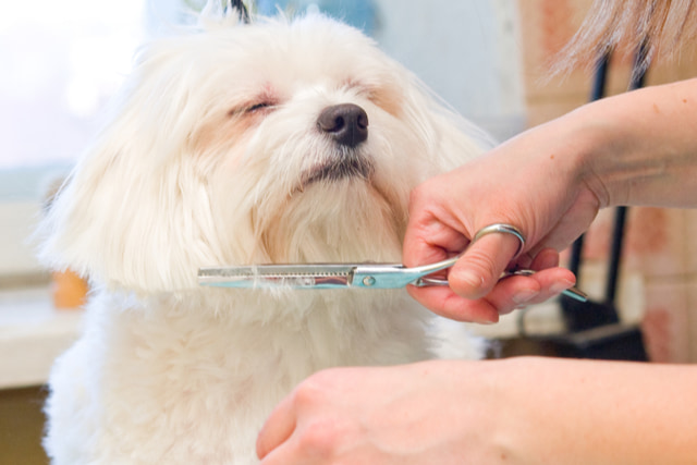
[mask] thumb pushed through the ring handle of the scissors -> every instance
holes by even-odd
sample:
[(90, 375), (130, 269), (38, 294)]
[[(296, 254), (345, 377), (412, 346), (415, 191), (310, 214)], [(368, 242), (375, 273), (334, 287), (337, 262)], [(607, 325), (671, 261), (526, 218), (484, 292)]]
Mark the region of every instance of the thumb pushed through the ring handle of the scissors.
[(505, 233), (487, 234), (473, 242), (450, 270), (450, 287), (468, 299), (484, 297), (498, 283), (518, 246), (518, 238)]

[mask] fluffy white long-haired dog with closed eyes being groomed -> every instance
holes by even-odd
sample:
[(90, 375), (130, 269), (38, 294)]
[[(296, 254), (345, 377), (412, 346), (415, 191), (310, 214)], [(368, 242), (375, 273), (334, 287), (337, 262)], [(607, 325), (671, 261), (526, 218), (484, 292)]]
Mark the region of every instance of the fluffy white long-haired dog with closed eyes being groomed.
[(204, 20), (144, 50), (42, 224), (46, 262), (94, 289), (50, 377), (56, 464), (254, 463), (266, 416), (311, 372), (433, 356), (404, 290), (196, 274), (401, 261), (409, 191), (480, 152), (468, 125), (346, 25)]

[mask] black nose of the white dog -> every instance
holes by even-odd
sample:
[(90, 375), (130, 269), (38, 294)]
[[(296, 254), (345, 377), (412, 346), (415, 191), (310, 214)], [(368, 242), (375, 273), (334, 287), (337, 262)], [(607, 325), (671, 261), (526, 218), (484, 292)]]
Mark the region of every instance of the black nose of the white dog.
[(319, 113), (317, 126), (347, 147), (355, 147), (368, 138), (368, 114), (353, 103), (327, 107)]

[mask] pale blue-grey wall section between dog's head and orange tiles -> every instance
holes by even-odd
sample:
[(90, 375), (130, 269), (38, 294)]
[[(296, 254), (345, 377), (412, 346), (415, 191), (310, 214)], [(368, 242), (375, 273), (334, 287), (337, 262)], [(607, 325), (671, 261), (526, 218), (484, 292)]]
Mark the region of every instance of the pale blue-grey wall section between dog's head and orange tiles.
[(375, 0), (380, 47), (498, 139), (524, 129), (516, 2)]

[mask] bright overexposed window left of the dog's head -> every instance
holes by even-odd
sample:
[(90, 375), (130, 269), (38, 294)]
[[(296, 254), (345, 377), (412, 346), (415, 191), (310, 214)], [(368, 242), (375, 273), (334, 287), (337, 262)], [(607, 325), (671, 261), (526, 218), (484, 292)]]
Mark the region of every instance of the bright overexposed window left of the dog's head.
[(9, 1), (0, 16), (0, 280), (36, 270), (26, 237), (144, 36), (143, 0)]

